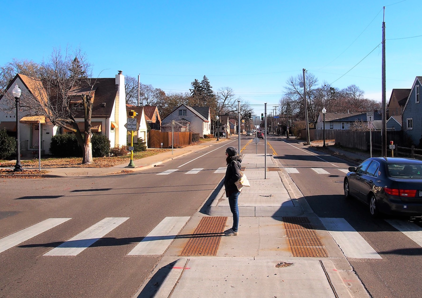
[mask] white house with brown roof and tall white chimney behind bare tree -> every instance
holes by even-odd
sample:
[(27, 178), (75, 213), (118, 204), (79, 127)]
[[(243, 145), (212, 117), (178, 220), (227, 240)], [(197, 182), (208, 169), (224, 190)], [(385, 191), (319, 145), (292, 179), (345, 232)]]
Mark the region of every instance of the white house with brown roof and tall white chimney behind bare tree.
[[(92, 133), (104, 134), (110, 140), (110, 146), (126, 145), (127, 130), (125, 124), (126, 115), (126, 95), (125, 77), (121, 71), (115, 78), (93, 78), (93, 106), (92, 106)], [(22, 90), (22, 96), (34, 96), (42, 101), (47, 97), (42, 83), (26, 75), (17, 74), (9, 83), (6, 92), (10, 93), (18, 84)], [(82, 107), (82, 93), (87, 93), (87, 88), (82, 87), (72, 91), (73, 99), (71, 108), (74, 111), (74, 118), (78, 122), (79, 129), (84, 130), (84, 117)], [(5, 105), (2, 104), (4, 96), (0, 97), (0, 129), (4, 128), (13, 134), (16, 131), (16, 111), (14, 113), (5, 112)], [(72, 133), (69, 130), (61, 129), (54, 125), (47, 117), (34, 115), (31, 111), (19, 111), (20, 148), (22, 155), (30, 154), (31, 151), (38, 150), (41, 144), (43, 154), (48, 153), (52, 136), (59, 133)], [(38, 127), (40, 123), (40, 128)], [(38, 140), (38, 130), (41, 129), (41, 140)]]

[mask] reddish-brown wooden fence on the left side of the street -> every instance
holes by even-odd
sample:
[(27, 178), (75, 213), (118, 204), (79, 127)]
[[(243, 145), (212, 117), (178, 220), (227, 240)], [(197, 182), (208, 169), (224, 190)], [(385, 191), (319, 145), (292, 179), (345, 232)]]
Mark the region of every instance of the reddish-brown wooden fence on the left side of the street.
[[(149, 130), (148, 148), (171, 148), (171, 132)], [(192, 132), (174, 132), (174, 148), (192, 144)]]

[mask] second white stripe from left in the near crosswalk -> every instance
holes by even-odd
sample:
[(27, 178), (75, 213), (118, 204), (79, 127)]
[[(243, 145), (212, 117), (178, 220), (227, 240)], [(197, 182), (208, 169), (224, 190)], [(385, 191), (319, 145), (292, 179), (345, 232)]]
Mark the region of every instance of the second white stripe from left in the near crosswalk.
[(76, 256), (128, 219), (128, 217), (106, 217), (68, 241), (53, 248), (44, 254), (44, 256)]

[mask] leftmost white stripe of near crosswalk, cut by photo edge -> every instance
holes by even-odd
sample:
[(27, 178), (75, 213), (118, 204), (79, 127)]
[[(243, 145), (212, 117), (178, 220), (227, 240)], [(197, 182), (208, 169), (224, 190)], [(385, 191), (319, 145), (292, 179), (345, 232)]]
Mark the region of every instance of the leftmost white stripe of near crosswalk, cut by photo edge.
[(0, 253), (9, 248), (12, 248), (15, 245), (34, 238), (35, 236), (44, 233), (45, 231), (48, 231), (49, 229), (54, 228), (59, 224), (65, 223), (70, 219), (71, 218), (49, 218), (45, 221), (36, 223), (27, 228), (24, 228), (23, 230), (6, 236), (0, 239)]

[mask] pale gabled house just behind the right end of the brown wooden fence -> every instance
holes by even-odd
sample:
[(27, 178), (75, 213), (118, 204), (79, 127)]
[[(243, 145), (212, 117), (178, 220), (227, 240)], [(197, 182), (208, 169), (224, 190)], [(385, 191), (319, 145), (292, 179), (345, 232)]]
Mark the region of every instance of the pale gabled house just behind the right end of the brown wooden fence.
[[(189, 123), (189, 131), (199, 133), (201, 136), (211, 133), (211, 119), (209, 107), (190, 107), (180, 105), (173, 109), (167, 117), (163, 119), (163, 126), (168, 127), (171, 121), (183, 121)], [(167, 129), (163, 131), (168, 131)], [(171, 131), (171, 130), (170, 130)]]

